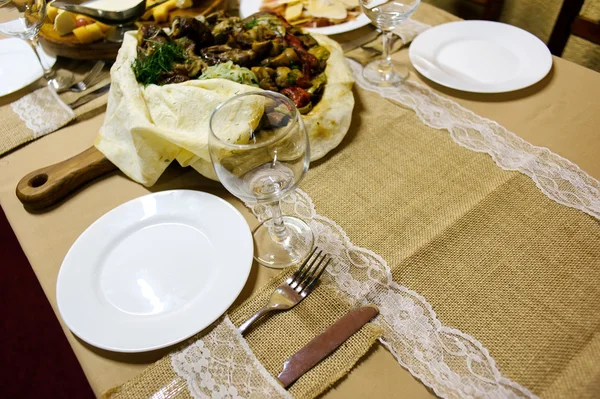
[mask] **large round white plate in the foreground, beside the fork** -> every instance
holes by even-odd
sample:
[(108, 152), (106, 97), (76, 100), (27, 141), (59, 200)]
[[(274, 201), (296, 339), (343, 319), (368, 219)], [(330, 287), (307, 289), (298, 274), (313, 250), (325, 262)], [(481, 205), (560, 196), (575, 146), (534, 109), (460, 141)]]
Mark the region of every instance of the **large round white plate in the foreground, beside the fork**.
[(175, 190), (129, 201), (75, 241), (56, 301), (82, 340), (117, 352), (180, 342), (209, 326), (241, 292), (252, 266), (248, 224), (211, 194)]

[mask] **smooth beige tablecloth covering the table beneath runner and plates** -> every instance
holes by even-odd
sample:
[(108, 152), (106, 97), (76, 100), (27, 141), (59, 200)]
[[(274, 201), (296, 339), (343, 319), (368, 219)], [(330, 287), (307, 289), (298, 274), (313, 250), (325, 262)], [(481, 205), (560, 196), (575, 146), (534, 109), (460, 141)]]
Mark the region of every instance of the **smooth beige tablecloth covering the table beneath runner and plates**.
[[(421, 9), (421, 12), (424, 11), (427, 11), (425, 7)], [(407, 53), (402, 51), (395, 57), (406, 61)], [(414, 71), (412, 78), (421, 80)], [(555, 58), (549, 76), (537, 85), (515, 93), (474, 95), (429, 85), (477, 114), (498, 121), (535, 145), (550, 148), (600, 178), (600, 157), (597, 155), (600, 151), (597, 134), (600, 114), (595, 96), (600, 92), (599, 74)], [(357, 104), (357, 112), (365, 109)], [(102, 214), (131, 198), (148, 193), (148, 189), (121, 174), (113, 174), (84, 188), (48, 212), (31, 214), (18, 202), (14, 188), (17, 181), (31, 170), (88, 148), (101, 123), (102, 115), (98, 115), (0, 159), (0, 203), (55, 310), (56, 276), (75, 239)], [(352, 140), (352, 137), (347, 140)], [(233, 203), (247, 217), (251, 227), (257, 223), (239, 201), (191, 170), (171, 168), (151, 190), (182, 187), (214, 192)], [(255, 265), (239, 300), (247, 298), (274, 274), (272, 270)], [(109, 353), (83, 343), (66, 327), (64, 329), (96, 393), (129, 380), (165, 353)], [(381, 346), (326, 394), (331, 398), (398, 396), (425, 398), (432, 394), (398, 367), (396, 360)]]

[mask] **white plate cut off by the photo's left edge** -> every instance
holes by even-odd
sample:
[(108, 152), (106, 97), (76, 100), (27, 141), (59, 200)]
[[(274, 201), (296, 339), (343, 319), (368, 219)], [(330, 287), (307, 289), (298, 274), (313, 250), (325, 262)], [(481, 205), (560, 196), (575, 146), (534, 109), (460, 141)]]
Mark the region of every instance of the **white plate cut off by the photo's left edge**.
[[(49, 66), (56, 63), (55, 57), (45, 53), (43, 57)], [(0, 40), (0, 97), (22, 89), (42, 76), (42, 66), (25, 40)]]

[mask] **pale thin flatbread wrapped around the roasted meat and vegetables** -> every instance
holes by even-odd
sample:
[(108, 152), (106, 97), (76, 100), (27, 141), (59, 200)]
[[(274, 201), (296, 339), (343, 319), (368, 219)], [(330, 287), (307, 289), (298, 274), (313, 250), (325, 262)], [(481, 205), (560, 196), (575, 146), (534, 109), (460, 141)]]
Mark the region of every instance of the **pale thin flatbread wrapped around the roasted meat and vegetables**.
[[(323, 97), (303, 115), (314, 161), (335, 148), (350, 127), (354, 79), (339, 44), (326, 36), (312, 36), (331, 53)], [(128, 32), (111, 68), (106, 117), (96, 148), (132, 180), (147, 187), (174, 160), (218, 180), (208, 152), (210, 116), (227, 99), (261, 89), (224, 79), (144, 87), (131, 68), (136, 56), (136, 35)]]

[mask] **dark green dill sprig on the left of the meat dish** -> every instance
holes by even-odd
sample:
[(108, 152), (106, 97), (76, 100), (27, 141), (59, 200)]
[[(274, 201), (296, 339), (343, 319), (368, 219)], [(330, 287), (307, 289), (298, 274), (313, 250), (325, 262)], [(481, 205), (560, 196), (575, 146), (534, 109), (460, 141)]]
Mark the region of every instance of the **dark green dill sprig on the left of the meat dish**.
[(145, 86), (158, 84), (161, 75), (172, 70), (173, 63), (182, 63), (187, 59), (185, 50), (177, 43), (148, 42), (153, 43), (154, 51), (146, 57), (138, 56), (131, 64), (137, 81)]

